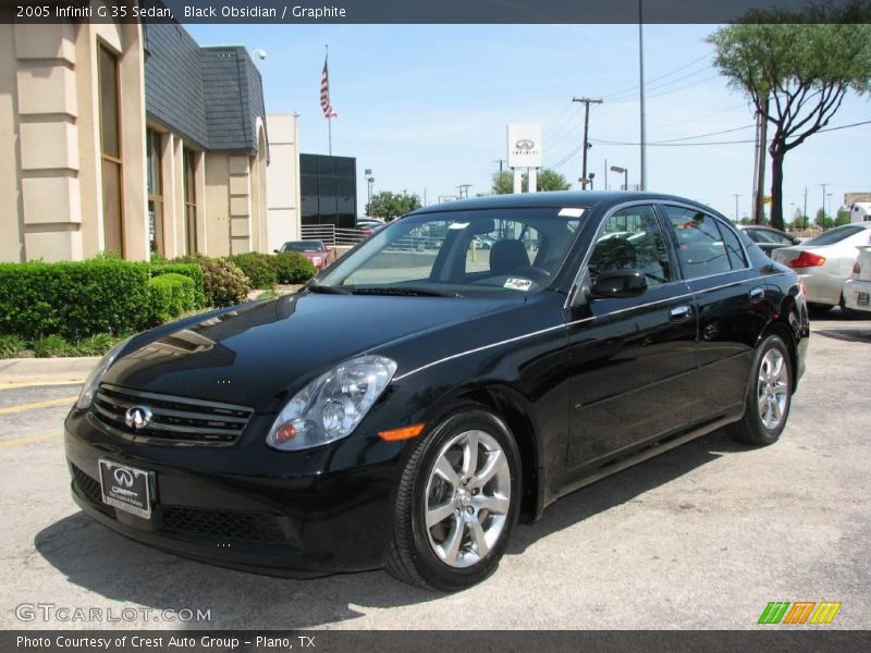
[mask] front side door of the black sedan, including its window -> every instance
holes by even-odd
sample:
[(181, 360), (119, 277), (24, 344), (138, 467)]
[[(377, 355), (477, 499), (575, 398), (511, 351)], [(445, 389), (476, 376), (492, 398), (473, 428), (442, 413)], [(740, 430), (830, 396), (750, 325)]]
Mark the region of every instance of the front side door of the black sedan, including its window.
[(633, 298), (587, 297), (569, 309), (569, 473), (686, 423), (695, 395), (697, 312), (663, 234), (651, 206), (633, 206), (606, 217), (593, 245), (591, 280), (637, 270), (649, 287)]

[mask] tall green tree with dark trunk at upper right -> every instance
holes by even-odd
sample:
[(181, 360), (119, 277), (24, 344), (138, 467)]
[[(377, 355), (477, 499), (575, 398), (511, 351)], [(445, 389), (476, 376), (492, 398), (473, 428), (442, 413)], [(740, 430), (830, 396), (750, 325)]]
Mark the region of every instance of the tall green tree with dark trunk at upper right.
[(751, 10), (707, 38), (714, 65), (773, 126), (772, 226), (783, 229), (786, 153), (829, 124), (848, 90), (871, 87), (870, 22), (868, 0), (847, 0), (801, 13)]

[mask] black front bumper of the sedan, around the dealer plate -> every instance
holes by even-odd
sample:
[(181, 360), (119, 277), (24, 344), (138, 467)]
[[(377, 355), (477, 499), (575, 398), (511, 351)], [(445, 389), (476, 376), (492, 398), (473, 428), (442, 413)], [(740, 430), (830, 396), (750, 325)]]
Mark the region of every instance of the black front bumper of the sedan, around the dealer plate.
[[(66, 419), (64, 440), (76, 503), (100, 523), (144, 544), (290, 577), (383, 564), (397, 481), (395, 443), (380, 443), (392, 446), (375, 454), (371, 447), (379, 443), (370, 443), (366, 459), (371, 463), (336, 469), (338, 459), (355, 458), (339, 451), (343, 443), (354, 446), (348, 439), (296, 454), (273, 452), (262, 439), (244, 436), (233, 446), (158, 446), (107, 433), (89, 415), (75, 411)], [(99, 458), (154, 472), (150, 519), (102, 503)]]

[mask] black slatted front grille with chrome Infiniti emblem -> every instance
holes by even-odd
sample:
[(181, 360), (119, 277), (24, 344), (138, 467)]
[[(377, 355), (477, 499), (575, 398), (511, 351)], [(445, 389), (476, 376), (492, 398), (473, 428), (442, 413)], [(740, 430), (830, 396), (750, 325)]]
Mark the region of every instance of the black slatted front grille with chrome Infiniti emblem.
[[(128, 427), (128, 408), (146, 406), (151, 419), (143, 428)], [(232, 444), (242, 434), (254, 410), (245, 406), (204, 402), (128, 390), (103, 383), (91, 404), (91, 415), (124, 433), (168, 442)]]

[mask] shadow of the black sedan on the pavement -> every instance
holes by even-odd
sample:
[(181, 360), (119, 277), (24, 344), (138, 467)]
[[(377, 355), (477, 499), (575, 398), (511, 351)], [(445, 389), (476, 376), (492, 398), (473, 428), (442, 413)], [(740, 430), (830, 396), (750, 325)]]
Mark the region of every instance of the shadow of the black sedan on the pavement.
[[(716, 432), (602, 480), (557, 502), (537, 523), (518, 526), (507, 553), (519, 554), (551, 533), (631, 501), (723, 453), (748, 448)], [(160, 611), (210, 611), (209, 620), (152, 624), (169, 628), (302, 629), (355, 619), (370, 608), (444, 596), (401, 583), (384, 571), (292, 580), (204, 565), (127, 540), (84, 513), (42, 529), (34, 545), (69, 582), (109, 600), (95, 597), (77, 607), (120, 602), (121, 606), (113, 605), (120, 613), (126, 606), (144, 606), (155, 611), (149, 621)], [(116, 625), (95, 627), (112, 626)]]

